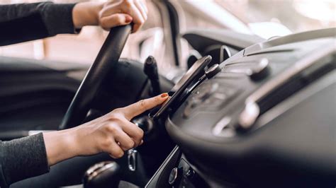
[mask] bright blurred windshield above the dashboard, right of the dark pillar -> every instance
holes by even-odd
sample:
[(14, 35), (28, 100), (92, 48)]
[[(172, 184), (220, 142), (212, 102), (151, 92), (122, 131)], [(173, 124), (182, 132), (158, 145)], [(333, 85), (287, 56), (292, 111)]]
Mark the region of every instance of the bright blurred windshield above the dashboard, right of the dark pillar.
[(179, 4), (186, 18), (185, 30), (220, 28), (269, 38), (335, 27), (336, 23), (336, 3), (332, 0), (209, 0)]

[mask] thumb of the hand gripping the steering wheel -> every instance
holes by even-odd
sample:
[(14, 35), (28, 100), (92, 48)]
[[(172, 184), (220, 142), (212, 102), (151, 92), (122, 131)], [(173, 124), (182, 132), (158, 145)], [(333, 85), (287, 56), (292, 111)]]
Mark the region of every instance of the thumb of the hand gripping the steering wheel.
[(114, 13), (110, 16), (105, 16), (101, 18), (100, 24), (101, 28), (109, 30), (113, 27), (119, 25), (127, 25), (132, 22), (133, 18), (125, 13)]

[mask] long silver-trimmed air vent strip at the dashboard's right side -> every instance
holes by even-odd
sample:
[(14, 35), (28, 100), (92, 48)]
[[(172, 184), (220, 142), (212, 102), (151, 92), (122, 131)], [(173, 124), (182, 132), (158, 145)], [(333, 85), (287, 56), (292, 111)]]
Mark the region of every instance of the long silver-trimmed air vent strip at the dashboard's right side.
[(245, 100), (237, 129), (244, 131), (250, 129), (260, 114), (334, 70), (335, 52), (335, 45), (327, 45), (264, 83)]

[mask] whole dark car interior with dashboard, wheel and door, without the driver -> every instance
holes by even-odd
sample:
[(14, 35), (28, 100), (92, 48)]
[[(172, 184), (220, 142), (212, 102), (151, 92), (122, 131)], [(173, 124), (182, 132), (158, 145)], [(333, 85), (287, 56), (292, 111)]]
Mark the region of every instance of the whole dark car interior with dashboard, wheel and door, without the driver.
[[(335, 187), (336, 28), (269, 39), (181, 33), (174, 3), (157, 4), (185, 71), (167, 78), (155, 56), (121, 58), (131, 25), (112, 28), (92, 64), (0, 57), (0, 139), (69, 129), (167, 92), (164, 105), (132, 119), (142, 146), (118, 160), (55, 165), (77, 169), (63, 172), (78, 177), (64, 186)], [(176, 38), (192, 49), (183, 62)]]

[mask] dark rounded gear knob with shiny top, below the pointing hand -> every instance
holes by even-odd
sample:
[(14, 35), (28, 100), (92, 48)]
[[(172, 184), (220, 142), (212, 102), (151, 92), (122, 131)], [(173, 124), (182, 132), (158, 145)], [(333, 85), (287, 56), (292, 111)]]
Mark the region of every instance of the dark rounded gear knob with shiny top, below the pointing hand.
[(84, 188), (115, 188), (121, 181), (120, 167), (114, 161), (104, 161), (86, 170)]

